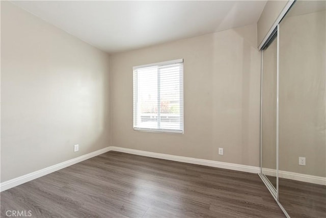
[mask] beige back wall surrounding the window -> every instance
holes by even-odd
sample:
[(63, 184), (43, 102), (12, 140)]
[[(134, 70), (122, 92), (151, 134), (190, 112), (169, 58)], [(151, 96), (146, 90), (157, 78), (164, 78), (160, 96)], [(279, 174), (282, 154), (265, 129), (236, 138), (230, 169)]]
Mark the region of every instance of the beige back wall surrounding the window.
[[(134, 131), (132, 66), (179, 58), (184, 134)], [(112, 55), (111, 76), (112, 146), (259, 166), (256, 25)]]

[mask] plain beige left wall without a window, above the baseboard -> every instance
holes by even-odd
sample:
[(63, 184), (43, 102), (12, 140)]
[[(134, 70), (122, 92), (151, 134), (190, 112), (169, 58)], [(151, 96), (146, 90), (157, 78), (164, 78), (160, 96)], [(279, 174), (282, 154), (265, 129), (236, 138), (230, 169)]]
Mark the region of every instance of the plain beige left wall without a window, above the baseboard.
[(108, 58), (1, 2), (2, 182), (110, 145)]

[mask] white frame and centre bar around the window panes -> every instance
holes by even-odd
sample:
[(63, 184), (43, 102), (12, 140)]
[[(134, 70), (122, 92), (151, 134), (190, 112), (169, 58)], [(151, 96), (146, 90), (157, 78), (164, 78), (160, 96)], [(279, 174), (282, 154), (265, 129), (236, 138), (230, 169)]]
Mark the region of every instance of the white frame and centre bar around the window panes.
[[(161, 129), (161, 128), (144, 128), (144, 127), (137, 127), (137, 124), (135, 124), (135, 120), (137, 122), (138, 118), (135, 119), (135, 116), (139, 116), (140, 113), (138, 113), (139, 111), (139, 105), (137, 105), (138, 107), (135, 107), (134, 103), (137, 102), (138, 100), (138, 78), (137, 78), (137, 70), (141, 69), (141, 68), (146, 68), (146, 67), (164, 67), (165, 65), (170, 65), (170, 64), (182, 64), (182, 68), (179, 71), (179, 77), (180, 77), (180, 81), (179, 81), (179, 98), (180, 98), (180, 129)], [(133, 74), (133, 117), (132, 117), (132, 126), (133, 126), (133, 130), (136, 131), (145, 131), (145, 132), (159, 132), (159, 133), (179, 133), (179, 134), (184, 134), (184, 105), (183, 105), (183, 59), (176, 59), (176, 60), (171, 60), (171, 61), (164, 61), (164, 62), (158, 62), (158, 63), (151, 63), (151, 64), (145, 64), (145, 65), (139, 65), (139, 66), (133, 66), (132, 67), (132, 74)], [(158, 70), (158, 78), (157, 78), (157, 83), (158, 83), (158, 87), (157, 87), (157, 91), (158, 91), (158, 100), (159, 100), (159, 92), (160, 92), (160, 81), (159, 81), (159, 70)], [(159, 106), (159, 101), (158, 102), (158, 106)], [(160, 114), (160, 107), (157, 108), (158, 109), (158, 114)], [(160, 119), (160, 116), (157, 115), (157, 119)], [(158, 121), (159, 122), (159, 121)]]

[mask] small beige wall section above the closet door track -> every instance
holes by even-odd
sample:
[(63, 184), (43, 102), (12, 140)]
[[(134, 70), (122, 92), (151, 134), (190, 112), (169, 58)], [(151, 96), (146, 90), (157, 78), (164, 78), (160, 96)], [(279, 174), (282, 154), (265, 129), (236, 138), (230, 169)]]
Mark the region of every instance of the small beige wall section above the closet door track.
[(273, 26), (273, 23), (278, 18), (287, 3), (287, 0), (267, 1), (264, 10), (261, 12), (260, 18), (257, 22), (257, 46), (259, 46), (264, 37), (267, 35), (269, 29), (271, 26)]

